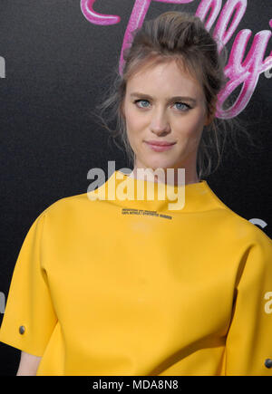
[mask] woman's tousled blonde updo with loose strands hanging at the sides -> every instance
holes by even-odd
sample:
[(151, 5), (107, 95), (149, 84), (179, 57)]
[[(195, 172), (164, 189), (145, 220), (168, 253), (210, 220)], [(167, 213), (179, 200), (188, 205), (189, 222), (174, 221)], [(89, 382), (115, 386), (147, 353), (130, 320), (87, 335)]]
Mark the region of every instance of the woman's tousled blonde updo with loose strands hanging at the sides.
[[(201, 82), (208, 115), (215, 112), (217, 96), (226, 86), (228, 79), (224, 73), (227, 49), (223, 47), (222, 53), (219, 54), (217, 41), (206, 30), (198, 16), (169, 11), (146, 20), (141, 28), (132, 32), (131, 37), (130, 47), (123, 52), (124, 65), (121, 74), (117, 66), (110, 88), (105, 92), (102, 102), (96, 106), (98, 113), (94, 111), (92, 114), (101, 120), (102, 127), (110, 132), (117, 147), (125, 149), (133, 166), (135, 154), (131, 149), (125, 119), (121, 112), (126, 84), (131, 76), (139, 72), (143, 66), (151, 67), (160, 62), (175, 60), (178, 65), (185, 67), (185, 71), (193, 78)], [(229, 99), (225, 106), (226, 104), (230, 104)], [(116, 121), (115, 128), (109, 125), (112, 120)], [(241, 120), (214, 117), (208, 126), (204, 126), (197, 156), (199, 180), (208, 177), (219, 168), (227, 139), (231, 147), (239, 153), (238, 132), (239, 135), (244, 134), (251, 145), (257, 146), (247, 127), (242, 126)], [(121, 145), (117, 139), (121, 140)], [(214, 162), (216, 166), (212, 171)]]

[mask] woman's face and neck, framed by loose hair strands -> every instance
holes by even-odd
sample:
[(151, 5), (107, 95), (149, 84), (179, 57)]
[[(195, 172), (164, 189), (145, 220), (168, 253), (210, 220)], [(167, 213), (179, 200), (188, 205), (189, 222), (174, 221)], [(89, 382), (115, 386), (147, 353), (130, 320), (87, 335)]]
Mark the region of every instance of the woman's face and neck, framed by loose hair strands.
[[(187, 182), (198, 181), (196, 160), (206, 117), (199, 82), (175, 61), (141, 70), (129, 79), (122, 107), (134, 168), (185, 168)], [(148, 142), (171, 143), (156, 149)]]

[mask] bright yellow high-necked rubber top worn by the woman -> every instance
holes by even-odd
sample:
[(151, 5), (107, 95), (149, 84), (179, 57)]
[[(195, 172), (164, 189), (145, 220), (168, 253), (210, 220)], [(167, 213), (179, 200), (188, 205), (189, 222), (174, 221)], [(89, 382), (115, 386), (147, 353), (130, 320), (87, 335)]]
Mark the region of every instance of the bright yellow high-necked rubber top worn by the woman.
[[(98, 190), (137, 187), (117, 173)], [(271, 376), (271, 239), (207, 181), (185, 198), (178, 211), (156, 193), (47, 207), (18, 255), (0, 341), (43, 356), (37, 375)]]

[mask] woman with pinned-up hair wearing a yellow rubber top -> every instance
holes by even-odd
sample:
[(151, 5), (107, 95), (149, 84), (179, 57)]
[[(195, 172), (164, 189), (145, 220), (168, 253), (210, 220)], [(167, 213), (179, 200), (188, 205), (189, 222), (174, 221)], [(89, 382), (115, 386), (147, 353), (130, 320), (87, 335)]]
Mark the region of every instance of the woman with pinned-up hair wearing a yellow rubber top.
[(271, 375), (271, 240), (201, 179), (224, 135), (217, 44), (169, 12), (135, 32), (125, 61), (114, 102), (131, 175), (36, 218), (0, 341), (23, 351), (18, 374)]

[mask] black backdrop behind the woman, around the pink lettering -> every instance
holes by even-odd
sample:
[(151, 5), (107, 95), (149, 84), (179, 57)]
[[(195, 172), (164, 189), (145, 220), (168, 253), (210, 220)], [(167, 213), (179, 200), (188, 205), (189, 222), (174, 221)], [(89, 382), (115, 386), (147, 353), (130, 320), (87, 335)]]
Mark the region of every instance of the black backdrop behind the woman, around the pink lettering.
[[(146, 19), (170, 10), (195, 13), (199, 3), (153, 1)], [(89, 169), (103, 168), (107, 174), (109, 160), (115, 160), (116, 169), (128, 167), (125, 153), (111, 143), (91, 111), (120, 61), (133, 5), (134, 0), (97, 0), (96, 12), (121, 17), (119, 24), (102, 26), (83, 16), (80, 0), (1, 0), (5, 78), (0, 79), (0, 293), (5, 300), (34, 219), (56, 200), (85, 193)], [(271, 30), (270, 18), (271, 0), (248, 1), (228, 50), (241, 29), (252, 30), (250, 48), (257, 32)], [(269, 41), (266, 56), (270, 51)], [(272, 78), (260, 74), (251, 101), (239, 115), (263, 148), (240, 142), (243, 157), (229, 151), (228, 159), (207, 178), (209, 187), (238, 215), (263, 220), (262, 230), (270, 237), (271, 85)], [(19, 357), (19, 350), (0, 342), (0, 375), (15, 375)]]

